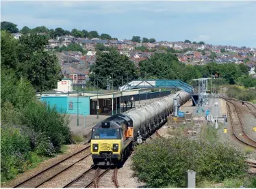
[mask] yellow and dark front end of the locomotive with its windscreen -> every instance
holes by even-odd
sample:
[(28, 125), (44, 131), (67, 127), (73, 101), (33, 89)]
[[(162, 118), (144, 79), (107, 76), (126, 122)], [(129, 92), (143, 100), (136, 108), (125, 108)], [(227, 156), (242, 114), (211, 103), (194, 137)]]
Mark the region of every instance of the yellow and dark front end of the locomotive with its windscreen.
[(91, 153), (94, 164), (111, 165), (120, 160), (121, 129), (114, 123), (103, 122), (92, 128)]

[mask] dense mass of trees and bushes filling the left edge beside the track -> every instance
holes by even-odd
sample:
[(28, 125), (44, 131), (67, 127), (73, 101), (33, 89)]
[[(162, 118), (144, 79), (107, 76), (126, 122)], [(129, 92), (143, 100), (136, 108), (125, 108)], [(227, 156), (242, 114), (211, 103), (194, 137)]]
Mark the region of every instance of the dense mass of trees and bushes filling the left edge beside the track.
[(68, 117), (36, 100), (36, 90), (52, 89), (59, 77), (56, 58), (43, 45), (44, 37), (16, 41), (1, 31), (1, 181), (70, 143)]

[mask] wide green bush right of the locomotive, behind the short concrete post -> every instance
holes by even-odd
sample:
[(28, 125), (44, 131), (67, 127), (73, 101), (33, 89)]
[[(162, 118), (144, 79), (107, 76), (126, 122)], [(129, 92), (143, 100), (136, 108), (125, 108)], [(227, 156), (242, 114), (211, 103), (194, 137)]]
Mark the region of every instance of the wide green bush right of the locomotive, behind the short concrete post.
[(242, 152), (222, 143), (198, 143), (182, 137), (155, 140), (136, 147), (133, 169), (146, 187), (186, 186), (185, 171), (196, 171), (196, 181), (220, 182), (246, 170)]

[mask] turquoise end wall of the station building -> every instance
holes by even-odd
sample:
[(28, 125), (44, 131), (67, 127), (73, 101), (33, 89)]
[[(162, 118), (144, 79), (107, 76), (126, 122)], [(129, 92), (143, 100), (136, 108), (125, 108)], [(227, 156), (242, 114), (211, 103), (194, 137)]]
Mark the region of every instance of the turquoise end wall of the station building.
[[(67, 114), (78, 114), (79, 115), (90, 115), (90, 98), (72, 96), (42, 96), (40, 98), (42, 102), (47, 102), (52, 107), (56, 106), (59, 113)], [(78, 100), (78, 110), (77, 110), (77, 100)]]

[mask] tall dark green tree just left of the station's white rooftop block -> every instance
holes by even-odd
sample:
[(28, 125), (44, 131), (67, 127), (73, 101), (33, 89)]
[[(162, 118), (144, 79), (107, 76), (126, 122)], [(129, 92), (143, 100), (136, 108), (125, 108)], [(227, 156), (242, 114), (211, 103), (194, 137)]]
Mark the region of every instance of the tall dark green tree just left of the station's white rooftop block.
[(18, 76), (28, 78), (36, 91), (47, 91), (56, 87), (60, 79), (60, 65), (55, 55), (44, 51), (48, 44), (44, 35), (23, 35), (17, 46)]

